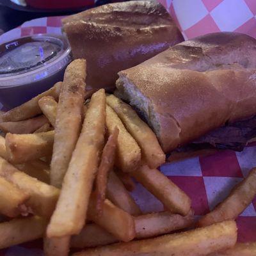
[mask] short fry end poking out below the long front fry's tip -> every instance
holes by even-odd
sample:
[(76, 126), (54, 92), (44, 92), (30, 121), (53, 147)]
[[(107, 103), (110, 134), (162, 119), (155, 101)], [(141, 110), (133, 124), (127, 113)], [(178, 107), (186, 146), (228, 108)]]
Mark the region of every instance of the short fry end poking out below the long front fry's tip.
[(45, 256), (68, 256), (70, 236), (44, 238)]

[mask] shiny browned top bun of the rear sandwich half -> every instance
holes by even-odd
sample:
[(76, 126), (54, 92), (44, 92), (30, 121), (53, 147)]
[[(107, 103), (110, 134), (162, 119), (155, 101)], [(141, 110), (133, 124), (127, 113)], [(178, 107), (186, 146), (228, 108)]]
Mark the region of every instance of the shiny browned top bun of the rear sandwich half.
[(172, 18), (154, 1), (105, 4), (62, 20), (72, 55), (85, 58), (86, 84), (115, 88), (117, 72), (183, 41)]

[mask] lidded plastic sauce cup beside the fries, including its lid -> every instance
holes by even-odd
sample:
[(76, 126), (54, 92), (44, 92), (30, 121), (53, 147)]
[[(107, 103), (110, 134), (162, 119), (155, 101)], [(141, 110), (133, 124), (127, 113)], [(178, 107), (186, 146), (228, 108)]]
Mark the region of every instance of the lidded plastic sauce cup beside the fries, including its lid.
[(63, 80), (72, 60), (62, 35), (39, 34), (0, 45), (0, 102), (8, 110)]

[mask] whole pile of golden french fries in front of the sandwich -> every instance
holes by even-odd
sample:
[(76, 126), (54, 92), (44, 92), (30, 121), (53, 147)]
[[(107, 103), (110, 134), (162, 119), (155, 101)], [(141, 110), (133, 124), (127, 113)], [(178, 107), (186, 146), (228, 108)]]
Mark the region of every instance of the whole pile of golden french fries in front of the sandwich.
[[(188, 195), (157, 170), (154, 132), (104, 89), (86, 92), (85, 70), (72, 61), (63, 82), (0, 115), (0, 248), (44, 238), (46, 256), (256, 255), (256, 243), (236, 243), (234, 221), (256, 169), (196, 222)], [(166, 211), (142, 214), (134, 179)]]

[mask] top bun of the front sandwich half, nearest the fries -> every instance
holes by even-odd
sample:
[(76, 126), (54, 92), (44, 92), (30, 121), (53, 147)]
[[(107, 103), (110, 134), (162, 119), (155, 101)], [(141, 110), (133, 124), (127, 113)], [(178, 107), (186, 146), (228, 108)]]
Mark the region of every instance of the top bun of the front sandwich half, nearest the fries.
[(212, 33), (118, 73), (117, 94), (145, 116), (169, 152), (256, 114), (256, 40)]

